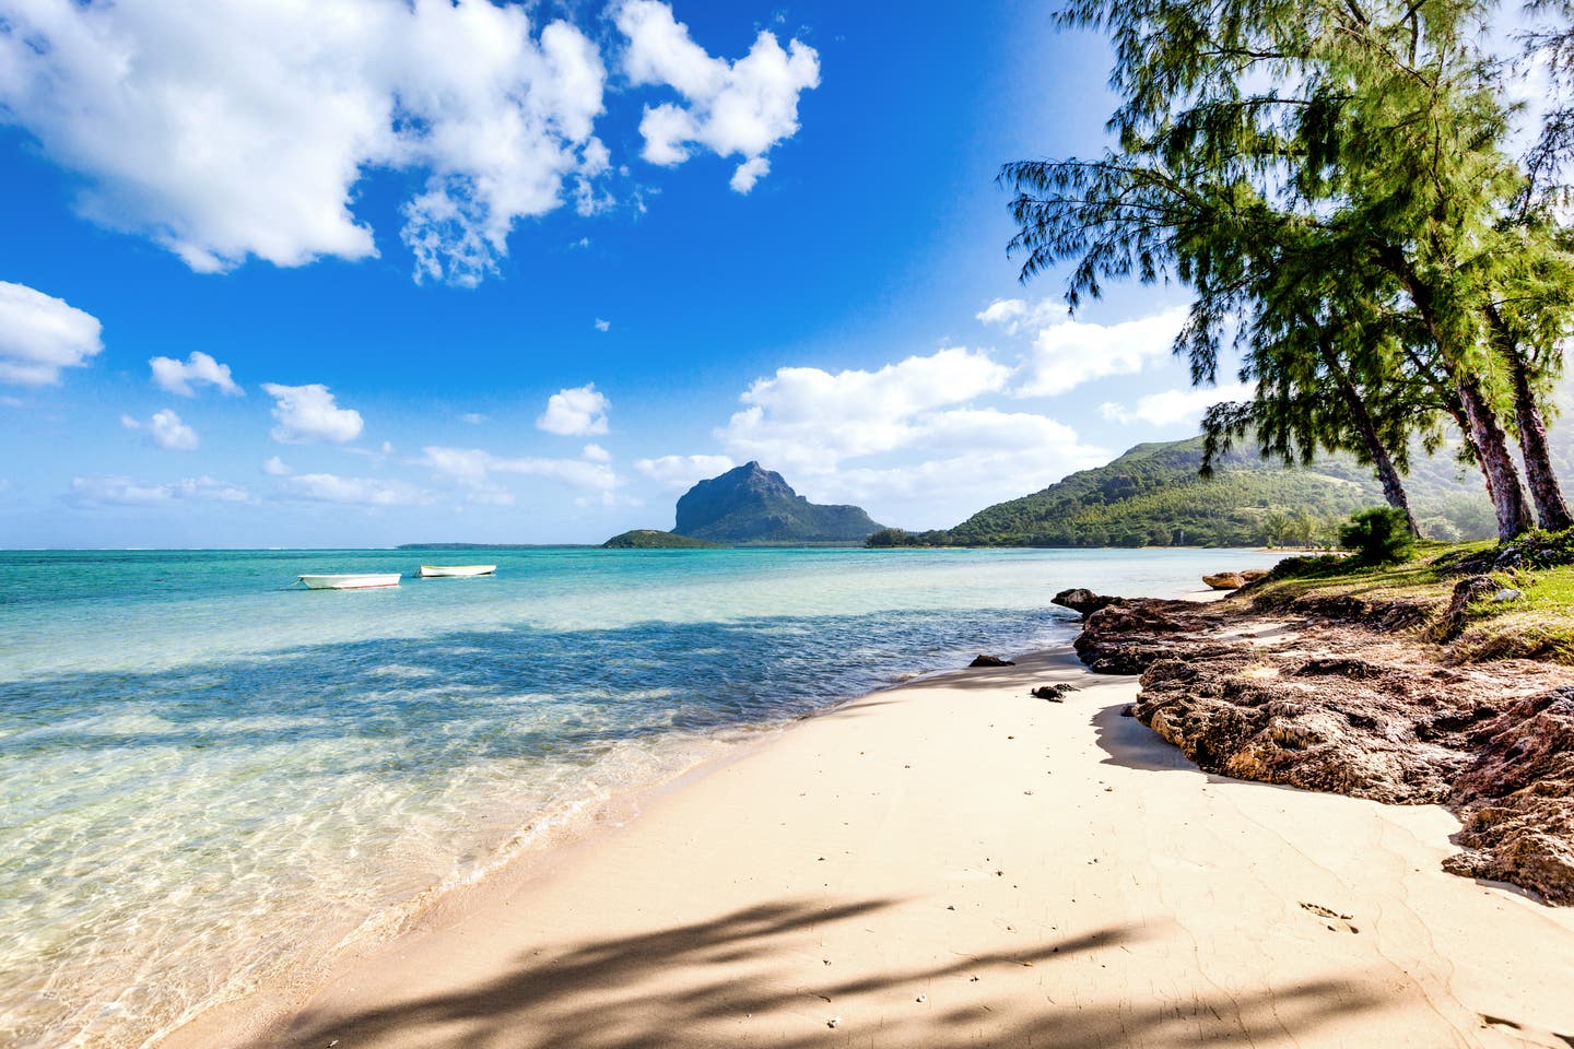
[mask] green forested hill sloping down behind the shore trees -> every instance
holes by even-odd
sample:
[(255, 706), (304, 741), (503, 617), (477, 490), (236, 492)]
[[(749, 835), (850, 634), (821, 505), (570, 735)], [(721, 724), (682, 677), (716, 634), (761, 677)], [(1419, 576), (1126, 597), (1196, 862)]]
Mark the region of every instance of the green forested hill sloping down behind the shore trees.
[[(1371, 470), (1350, 456), (1286, 469), (1254, 450), (1198, 477), (1203, 439), (1143, 444), (1113, 462), (1040, 492), (981, 510), (944, 532), (885, 530), (870, 546), (1284, 546), (1332, 541), (1352, 510), (1384, 502)], [(1495, 535), (1478, 475), (1447, 453), (1417, 455), (1407, 480), (1423, 532)]]

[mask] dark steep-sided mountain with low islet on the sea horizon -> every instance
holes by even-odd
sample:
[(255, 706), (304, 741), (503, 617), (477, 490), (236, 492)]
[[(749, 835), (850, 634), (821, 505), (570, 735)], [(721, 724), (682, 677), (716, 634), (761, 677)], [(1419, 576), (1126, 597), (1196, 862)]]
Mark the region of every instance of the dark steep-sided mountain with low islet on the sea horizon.
[(683, 492), (672, 532), (636, 528), (603, 546), (858, 546), (881, 527), (861, 506), (811, 503), (781, 473), (746, 462)]

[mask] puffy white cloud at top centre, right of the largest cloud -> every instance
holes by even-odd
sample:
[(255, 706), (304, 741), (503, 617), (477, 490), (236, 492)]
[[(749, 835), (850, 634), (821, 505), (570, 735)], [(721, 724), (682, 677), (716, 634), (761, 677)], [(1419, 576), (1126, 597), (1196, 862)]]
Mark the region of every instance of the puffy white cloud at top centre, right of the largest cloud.
[(798, 132), (798, 96), (820, 83), (818, 53), (796, 39), (782, 50), (774, 33), (760, 31), (743, 58), (718, 58), (658, 0), (625, 0), (615, 20), (628, 38), (628, 79), (671, 86), (686, 102), (645, 109), (639, 123), (645, 160), (682, 164), (696, 145), (721, 157), (741, 156), (732, 189), (754, 189), (770, 170), (765, 154)]

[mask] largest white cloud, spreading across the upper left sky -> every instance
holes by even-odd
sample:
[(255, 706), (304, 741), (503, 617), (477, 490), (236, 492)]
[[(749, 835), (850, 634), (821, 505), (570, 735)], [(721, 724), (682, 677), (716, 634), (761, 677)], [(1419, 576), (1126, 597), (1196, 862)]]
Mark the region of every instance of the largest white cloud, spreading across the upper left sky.
[(411, 173), (417, 280), (474, 285), (516, 220), (601, 200), (604, 64), (573, 25), (530, 17), (493, 0), (6, 0), (0, 120), (83, 178), (82, 214), (200, 272), (373, 256), (357, 182)]

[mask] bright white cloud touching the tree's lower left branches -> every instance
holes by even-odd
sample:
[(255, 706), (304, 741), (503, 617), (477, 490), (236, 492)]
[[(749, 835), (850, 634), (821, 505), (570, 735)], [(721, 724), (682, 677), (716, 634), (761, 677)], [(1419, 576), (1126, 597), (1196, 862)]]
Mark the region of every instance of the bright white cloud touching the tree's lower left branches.
[(1018, 373), (1015, 393), (1055, 396), (1105, 376), (1144, 371), (1169, 359), (1185, 318), (1182, 307), (1119, 324), (1061, 319), (1040, 327)]

